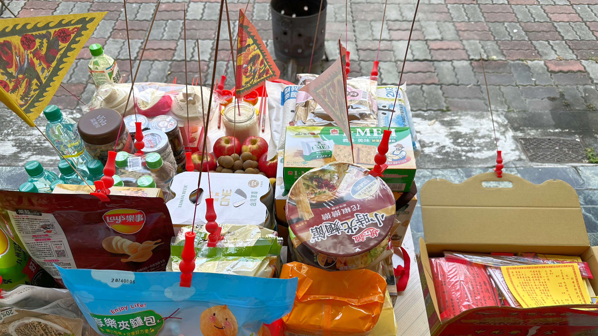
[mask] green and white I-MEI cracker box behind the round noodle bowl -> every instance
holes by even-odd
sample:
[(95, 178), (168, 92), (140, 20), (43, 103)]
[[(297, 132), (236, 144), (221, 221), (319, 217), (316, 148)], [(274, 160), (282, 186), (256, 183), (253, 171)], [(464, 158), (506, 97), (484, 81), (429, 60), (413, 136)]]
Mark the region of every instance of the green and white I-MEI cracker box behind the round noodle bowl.
[[(355, 164), (372, 169), (374, 155), (386, 127), (351, 127)], [(390, 190), (409, 191), (415, 176), (416, 164), (409, 127), (391, 127), (383, 181)], [(310, 169), (340, 161), (353, 163), (351, 144), (340, 127), (286, 127), (283, 174), (285, 187), (291, 188), (299, 176)]]

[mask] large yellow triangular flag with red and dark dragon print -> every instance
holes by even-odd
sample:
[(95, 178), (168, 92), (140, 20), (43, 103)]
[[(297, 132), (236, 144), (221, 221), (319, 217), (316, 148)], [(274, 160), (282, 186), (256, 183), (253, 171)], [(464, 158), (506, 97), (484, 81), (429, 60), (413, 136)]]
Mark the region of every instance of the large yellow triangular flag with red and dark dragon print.
[(0, 101), (33, 127), (106, 13), (2, 19)]

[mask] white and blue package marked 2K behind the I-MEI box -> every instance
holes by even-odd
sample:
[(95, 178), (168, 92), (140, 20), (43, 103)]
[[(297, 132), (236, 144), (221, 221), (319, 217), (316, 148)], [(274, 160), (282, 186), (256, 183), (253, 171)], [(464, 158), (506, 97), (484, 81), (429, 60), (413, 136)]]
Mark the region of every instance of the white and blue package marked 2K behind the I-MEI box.
[[(409, 105), (409, 99), (407, 99), (405, 88), (405, 84), (401, 85), (400, 90), (398, 90), (399, 96), (396, 97), (396, 85), (377, 87), (377, 126), (388, 127), (390, 125), (390, 127), (409, 127), (411, 131), (411, 140), (413, 140), (413, 152), (415, 153), (415, 157), (419, 157), (421, 148), (419, 141), (417, 140), (417, 133), (415, 132), (415, 127), (413, 125), (413, 117), (411, 117), (411, 106)], [(395, 111), (394, 114), (392, 113), (393, 110)], [(391, 115), (392, 120), (390, 120)]]

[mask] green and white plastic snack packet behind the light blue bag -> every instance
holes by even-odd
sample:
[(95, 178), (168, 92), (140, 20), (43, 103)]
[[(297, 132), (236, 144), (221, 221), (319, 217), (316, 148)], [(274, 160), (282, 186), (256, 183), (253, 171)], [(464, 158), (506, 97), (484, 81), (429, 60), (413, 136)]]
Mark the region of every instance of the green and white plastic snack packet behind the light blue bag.
[[(224, 239), (215, 248), (209, 248), (208, 231), (203, 224), (196, 225), (194, 271), (259, 277), (280, 274), (282, 237), (276, 231), (259, 225), (220, 224), (220, 227)], [(189, 231), (191, 226), (183, 227), (172, 239), (167, 271), (180, 271), (185, 233)]]

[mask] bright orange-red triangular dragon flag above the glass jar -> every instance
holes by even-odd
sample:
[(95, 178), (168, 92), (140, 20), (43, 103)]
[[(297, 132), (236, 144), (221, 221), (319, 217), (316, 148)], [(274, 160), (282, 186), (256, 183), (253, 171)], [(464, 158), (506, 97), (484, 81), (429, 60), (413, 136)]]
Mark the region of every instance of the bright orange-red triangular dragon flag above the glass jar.
[(280, 71), (266, 44), (254, 25), (239, 10), (239, 33), (237, 33), (236, 96), (245, 96), (269, 80), (276, 80)]

